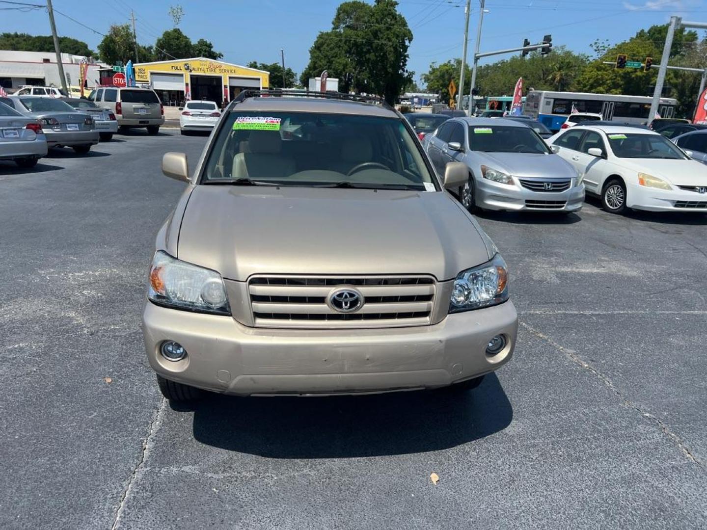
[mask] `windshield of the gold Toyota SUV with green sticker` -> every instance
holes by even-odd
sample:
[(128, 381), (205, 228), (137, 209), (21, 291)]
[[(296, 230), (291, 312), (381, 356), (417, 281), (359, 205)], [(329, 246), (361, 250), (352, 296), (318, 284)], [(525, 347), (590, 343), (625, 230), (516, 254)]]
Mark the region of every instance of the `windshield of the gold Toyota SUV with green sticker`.
[(282, 111), (231, 112), (201, 182), (436, 189), (402, 119)]

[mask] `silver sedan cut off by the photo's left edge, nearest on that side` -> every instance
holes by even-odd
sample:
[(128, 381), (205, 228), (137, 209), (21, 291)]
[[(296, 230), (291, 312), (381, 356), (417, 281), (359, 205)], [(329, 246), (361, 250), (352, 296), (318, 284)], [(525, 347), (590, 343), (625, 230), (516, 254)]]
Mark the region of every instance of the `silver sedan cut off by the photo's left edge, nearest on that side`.
[(0, 102), (0, 160), (13, 160), (20, 167), (34, 167), (45, 155), (47, 137), (42, 125)]

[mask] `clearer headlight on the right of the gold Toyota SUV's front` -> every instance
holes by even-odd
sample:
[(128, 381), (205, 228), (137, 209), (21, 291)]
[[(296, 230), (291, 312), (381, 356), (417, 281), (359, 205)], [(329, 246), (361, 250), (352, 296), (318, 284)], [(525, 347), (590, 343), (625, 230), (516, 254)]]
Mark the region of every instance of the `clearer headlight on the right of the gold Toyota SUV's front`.
[(501, 254), (491, 261), (462, 271), (454, 281), (449, 312), (469, 311), (508, 300), (508, 269)]

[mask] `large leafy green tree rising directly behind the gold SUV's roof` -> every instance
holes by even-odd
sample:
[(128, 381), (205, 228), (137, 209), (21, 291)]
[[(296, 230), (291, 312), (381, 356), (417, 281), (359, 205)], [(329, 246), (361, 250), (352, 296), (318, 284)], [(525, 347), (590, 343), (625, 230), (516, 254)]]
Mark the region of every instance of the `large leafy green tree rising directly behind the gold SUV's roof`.
[(346, 1), (337, 8), (332, 30), (317, 35), (301, 79), (306, 83), (327, 70), (329, 77), (339, 78), (342, 92), (354, 90), (395, 102), (412, 78), (407, 71), (411, 41), (397, 1)]

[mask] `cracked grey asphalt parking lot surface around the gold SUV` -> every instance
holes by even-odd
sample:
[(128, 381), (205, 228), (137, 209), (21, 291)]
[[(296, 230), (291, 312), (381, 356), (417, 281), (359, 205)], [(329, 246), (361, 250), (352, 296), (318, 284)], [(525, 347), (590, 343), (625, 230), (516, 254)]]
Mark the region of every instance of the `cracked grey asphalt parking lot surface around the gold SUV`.
[(465, 396), (173, 407), (140, 316), (161, 157), (205, 141), (0, 163), (0, 528), (707, 526), (707, 216), (480, 216), (520, 336)]

